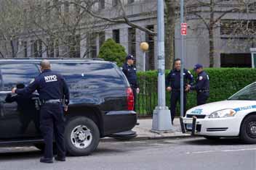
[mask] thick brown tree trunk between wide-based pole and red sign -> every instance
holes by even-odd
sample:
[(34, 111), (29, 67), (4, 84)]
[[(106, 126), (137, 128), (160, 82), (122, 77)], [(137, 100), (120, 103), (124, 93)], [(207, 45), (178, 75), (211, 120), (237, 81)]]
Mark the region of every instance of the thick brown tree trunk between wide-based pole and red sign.
[(175, 59), (175, 1), (165, 0), (165, 69), (172, 69)]

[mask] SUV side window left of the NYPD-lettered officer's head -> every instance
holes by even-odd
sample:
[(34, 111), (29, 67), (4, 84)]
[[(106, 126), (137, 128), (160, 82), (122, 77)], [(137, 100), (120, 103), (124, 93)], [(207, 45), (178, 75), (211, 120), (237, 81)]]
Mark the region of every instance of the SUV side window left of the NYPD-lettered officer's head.
[(4, 91), (11, 90), (17, 83), (28, 85), (39, 75), (35, 64), (1, 64), (0, 69)]

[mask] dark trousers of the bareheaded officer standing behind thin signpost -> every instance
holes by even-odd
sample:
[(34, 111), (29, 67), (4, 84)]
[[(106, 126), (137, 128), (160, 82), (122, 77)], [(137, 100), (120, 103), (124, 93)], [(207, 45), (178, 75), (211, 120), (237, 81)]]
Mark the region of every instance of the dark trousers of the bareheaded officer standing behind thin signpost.
[[(177, 106), (177, 101), (180, 101), (180, 91), (177, 90), (172, 90), (172, 94), (171, 94), (171, 116), (172, 116), (172, 122), (175, 119), (175, 115), (176, 115), (176, 106)], [(186, 104), (187, 104), (187, 93), (184, 93), (184, 100), (183, 100), (184, 106), (184, 112), (183, 112), (183, 116), (185, 116), (185, 111), (186, 111)]]

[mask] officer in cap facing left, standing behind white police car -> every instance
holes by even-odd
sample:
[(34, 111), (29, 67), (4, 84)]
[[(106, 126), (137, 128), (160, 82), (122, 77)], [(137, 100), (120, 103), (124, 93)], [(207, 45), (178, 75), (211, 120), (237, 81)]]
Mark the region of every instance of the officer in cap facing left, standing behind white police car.
[(203, 66), (201, 64), (196, 64), (194, 67), (197, 79), (195, 85), (188, 85), (188, 89), (196, 90), (196, 101), (197, 106), (207, 103), (209, 98), (209, 75), (204, 72)]

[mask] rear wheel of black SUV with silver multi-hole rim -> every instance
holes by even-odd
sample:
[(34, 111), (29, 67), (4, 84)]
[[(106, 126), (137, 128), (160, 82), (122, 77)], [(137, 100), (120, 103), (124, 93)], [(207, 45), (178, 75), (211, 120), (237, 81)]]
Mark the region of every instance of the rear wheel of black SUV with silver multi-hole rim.
[(65, 127), (66, 149), (71, 156), (87, 156), (100, 142), (100, 132), (91, 119), (77, 116)]

